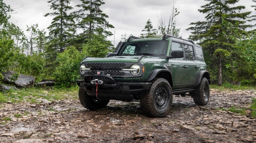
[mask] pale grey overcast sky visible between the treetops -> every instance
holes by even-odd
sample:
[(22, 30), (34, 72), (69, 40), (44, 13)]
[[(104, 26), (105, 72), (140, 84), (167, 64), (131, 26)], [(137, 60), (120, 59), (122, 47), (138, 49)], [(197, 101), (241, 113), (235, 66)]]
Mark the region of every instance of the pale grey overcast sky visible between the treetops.
[[(27, 34), (26, 25), (38, 24), (39, 29), (45, 29), (51, 24), (53, 17), (44, 17), (46, 13), (52, 12), (48, 0), (4, 0), (7, 5), (17, 8), (18, 13), (12, 14), (10, 22), (19, 26)], [(139, 37), (148, 19), (155, 29), (158, 28), (157, 15), (164, 14), (169, 17), (173, 0), (104, 0), (105, 5), (101, 6), (103, 13), (106, 13), (110, 24), (114, 29), (109, 29), (114, 34), (115, 46), (121, 40), (121, 34), (134, 35)], [(71, 0), (70, 6), (75, 7), (79, 0)], [(181, 28), (180, 36), (187, 39), (191, 22), (204, 21), (205, 15), (198, 12), (200, 7), (206, 4), (204, 0), (176, 0), (175, 7), (180, 14), (176, 18), (176, 27)], [(252, 0), (240, 0), (238, 5), (246, 7), (245, 11), (252, 11), (256, 14), (251, 5), (256, 5)], [(254, 22), (255, 24), (255, 22)], [(114, 44), (114, 35), (108, 37)]]

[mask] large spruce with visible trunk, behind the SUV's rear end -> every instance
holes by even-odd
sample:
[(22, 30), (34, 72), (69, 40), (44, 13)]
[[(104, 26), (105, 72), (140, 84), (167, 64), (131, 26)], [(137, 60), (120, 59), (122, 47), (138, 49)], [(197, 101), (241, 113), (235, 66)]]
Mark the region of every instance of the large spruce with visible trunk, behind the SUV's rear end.
[[(246, 20), (249, 18), (251, 12), (243, 12), (245, 6), (235, 6), (239, 0), (205, 0), (209, 1), (208, 4), (201, 6), (203, 9), (198, 11), (205, 16), (206, 21), (199, 21), (191, 23), (194, 25), (186, 30), (192, 30), (192, 34), (189, 38), (194, 41), (200, 41), (200, 44), (204, 48), (206, 62), (213, 71), (211, 74), (217, 71), (218, 85), (222, 84), (222, 67), (228, 61), (230, 61), (230, 54), (234, 50), (232, 45), (234, 40), (229, 38), (229, 30), (232, 27), (225, 26), (224, 22), (238, 25), (238, 31), (240, 33), (251, 25), (246, 25)], [(224, 62), (224, 64), (223, 64)], [(217, 67), (215, 66), (217, 63)]]

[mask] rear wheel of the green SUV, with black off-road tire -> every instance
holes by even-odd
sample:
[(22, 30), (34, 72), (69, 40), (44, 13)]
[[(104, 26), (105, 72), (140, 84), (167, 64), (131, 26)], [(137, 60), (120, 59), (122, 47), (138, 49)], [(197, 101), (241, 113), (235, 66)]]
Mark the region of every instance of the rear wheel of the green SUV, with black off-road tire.
[(196, 87), (196, 92), (193, 92), (192, 96), (197, 105), (207, 105), (210, 99), (210, 87), (205, 77), (203, 77), (200, 84)]

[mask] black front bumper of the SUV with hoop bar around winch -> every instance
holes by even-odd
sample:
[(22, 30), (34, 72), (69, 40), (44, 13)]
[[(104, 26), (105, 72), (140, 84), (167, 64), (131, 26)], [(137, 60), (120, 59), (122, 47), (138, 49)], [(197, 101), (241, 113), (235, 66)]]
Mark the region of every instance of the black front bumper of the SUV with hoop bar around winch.
[(103, 99), (114, 99), (130, 101), (138, 99), (142, 92), (148, 91), (152, 83), (116, 82), (112, 77), (106, 75), (87, 75), (84, 80), (77, 80), (79, 87), (84, 88), (89, 96), (96, 97), (96, 85), (91, 80), (99, 79), (103, 84), (98, 85), (97, 97)]

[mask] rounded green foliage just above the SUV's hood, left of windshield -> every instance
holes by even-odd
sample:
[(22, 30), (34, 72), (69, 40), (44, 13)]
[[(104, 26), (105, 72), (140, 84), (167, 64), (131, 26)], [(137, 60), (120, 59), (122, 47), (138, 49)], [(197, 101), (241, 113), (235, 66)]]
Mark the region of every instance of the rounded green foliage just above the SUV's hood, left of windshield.
[(111, 41), (107, 40), (104, 35), (93, 34), (92, 38), (83, 45), (83, 53), (86, 56), (105, 57), (108, 52), (113, 51)]

